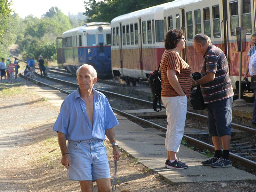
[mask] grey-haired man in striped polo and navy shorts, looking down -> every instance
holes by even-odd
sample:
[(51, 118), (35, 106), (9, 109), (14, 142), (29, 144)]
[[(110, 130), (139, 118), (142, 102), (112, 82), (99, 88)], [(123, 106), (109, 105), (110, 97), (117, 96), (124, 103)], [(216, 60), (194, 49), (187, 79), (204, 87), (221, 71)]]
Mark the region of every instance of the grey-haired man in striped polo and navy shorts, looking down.
[(215, 149), (214, 156), (202, 164), (215, 168), (231, 167), (229, 148), (234, 92), (228, 61), (221, 49), (212, 45), (211, 39), (205, 34), (194, 36), (193, 46), (204, 60), (202, 78), (197, 81), (192, 78), (192, 85), (201, 85), (204, 103), (207, 104), (209, 134)]

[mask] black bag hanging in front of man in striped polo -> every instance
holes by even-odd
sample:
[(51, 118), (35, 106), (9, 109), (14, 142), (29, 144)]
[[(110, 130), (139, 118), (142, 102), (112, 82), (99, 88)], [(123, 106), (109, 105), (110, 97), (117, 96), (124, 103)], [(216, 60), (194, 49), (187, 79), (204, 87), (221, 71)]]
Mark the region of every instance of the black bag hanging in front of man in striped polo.
[(204, 103), (204, 98), (200, 85), (194, 87), (190, 93), (190, 102), (194, 110), (204, 110), (207, 105)]

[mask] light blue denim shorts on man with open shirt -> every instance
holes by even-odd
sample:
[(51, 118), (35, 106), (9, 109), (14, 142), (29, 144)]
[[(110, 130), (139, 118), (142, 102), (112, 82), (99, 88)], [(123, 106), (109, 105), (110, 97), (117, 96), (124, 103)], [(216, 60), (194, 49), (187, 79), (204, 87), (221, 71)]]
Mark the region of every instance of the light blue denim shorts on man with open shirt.
[(70, 180), (110, 178), (107, 150), (99, 139), (68, 141)]

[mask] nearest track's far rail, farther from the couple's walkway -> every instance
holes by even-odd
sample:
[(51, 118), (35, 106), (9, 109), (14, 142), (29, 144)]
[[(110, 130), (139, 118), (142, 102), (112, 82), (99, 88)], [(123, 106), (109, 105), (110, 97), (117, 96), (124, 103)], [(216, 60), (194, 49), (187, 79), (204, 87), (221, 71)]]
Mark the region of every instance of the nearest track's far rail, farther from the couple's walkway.
[[(37, 75), (39, 75), (39, 74), (37, 74)], [(47, 79), (54, 80), (54, 81), (64, 83), (64, 84), (68, 84), (68, 85), (71, 85), (71, 86), (76, 86), (76, 87), (78, 86), (78, 84), (68, 82), (68, 81), (64, 81), (64, 80), (60, 80), (60, 79), (57, 79), (57, 78), (53, 78), (53, 77), (49, 77), (49, 76), (44, 76), (44, 77), (47, 78)], [(123, 97), (125, 99), (135, 100), (135, 101), (144, 102), (144, 103), (152, 105), (151, 101), (138, 99), (138, 98), (134, 98), (134, 97), (130, 97), (130, 96), (126, 96), (126, 95), (122, 95), (122, 94), (114, 93), (114, 92), (110, 92), (110, 91), (105, 91), (105, 90), (102, 90), (102, 89), (95, 89), (95, 90), (100, 91), (100, 92), (105, 93), (105, 94), (111, 94), (111, 95), (115, 95), (117, 97)], [(157, 104), (157, 105), (159, 106), (159, 104)], [(165, 107), (162, 106), (162, 108), (165, 108)], [(207, 118), (208, 118), (205, 115), (197, 114), (197, 113), (194, 113), (194, 112), (191, 112), (191, 111), (187, 111), (187, 114), (191, 115), (191, 116), (196, 116), (196, 117), (204, 119), (204, 120), (207, 120)], [(247, 126), (244, 126), (244, 125), (235, 124), (235, 123), (231, 123), (231, 125), (235, 129), (256, 134), (256, 129), (254, 129), (254, 128), (247, 127)]]

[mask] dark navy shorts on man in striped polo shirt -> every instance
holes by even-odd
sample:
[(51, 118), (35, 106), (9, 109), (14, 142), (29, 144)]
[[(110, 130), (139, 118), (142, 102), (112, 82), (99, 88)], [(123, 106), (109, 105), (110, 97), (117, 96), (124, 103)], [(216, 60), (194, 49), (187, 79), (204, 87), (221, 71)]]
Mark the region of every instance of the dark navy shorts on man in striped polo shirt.
[(210, 136), (231, 135), (233, 97), (207, 104)]

